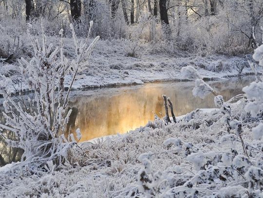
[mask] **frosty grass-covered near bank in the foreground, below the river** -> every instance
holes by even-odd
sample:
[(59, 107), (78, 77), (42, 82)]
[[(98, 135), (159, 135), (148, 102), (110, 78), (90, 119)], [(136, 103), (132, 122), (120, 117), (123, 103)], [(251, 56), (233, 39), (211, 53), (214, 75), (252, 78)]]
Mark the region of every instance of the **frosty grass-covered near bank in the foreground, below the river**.
[[(244, 101), (231, 105), (233, 116), (244, 113), (243, 105)], [(245, 159), (245, 156), (238, 155), (243, 153), (243, 148), (240, 142), (229, 139), (230, 136), (234, 137), (234, 131), (229, 134), (223, 120), (218, 109), (200, 111), (188, 122), (182, 120), (165, 126), (163, 121), (156, 119), (127, 134), (79, 144), (81, 149), (75, 147), (70, 162), (60, 171), (51, 170), (41, 178), (34, 175), (20, 177), (19, 172), (15, 176), (1, 174), (0, 197), (179, 198), (192, 193), (196, 198), (228, 198), (232, 195), (248, 198), (248, 181), (244, 176), (244, 170), (248, 167), (243, 167), (245, 163), (238, 161)], [(252, 140), (251, 126), (254, 124), (244, 124), (243, 140), (245, 144), (261, 149), (262, 142)], [(169, 142), (174, 145), (168, 144)], [(184, 150), (184, 145), (190, 147)], [(194, 150), (204, 157), (195, 159), (193, 153), (191, 158), (185, 158), (185, 152)], [(256, 154), (251, 148), (248, 151), (250, 161), (254, 163)], [(141, 155), (143, 153), (146, 154)], [(218, 165), (227, 162), (222, 153), (232, 156), (228, 162), (234, 158), (233, 164), (241, 166), (236, 171), (232, 170), (235, 169), (234, 166), (222, 172), (216, 166), (217, 158), (222, 158), (223, 161), (218, 162)], [(213, 167), (214, 175), (205, 181), (206, 177), (210, 177), (208, 167)], [(156, 179), (151, 184), (147, 183), (147, 179), (142, 179), (144, 170), (147, 171), (149, 180), (151, 176)], [(200, 180), (197, 185), (192, 186), (189, 181), (198, 177), (204, 181)], [(145, 189), (146, 186), (150, 189)], [(259, 196), (260, 193), (257, 192)]]

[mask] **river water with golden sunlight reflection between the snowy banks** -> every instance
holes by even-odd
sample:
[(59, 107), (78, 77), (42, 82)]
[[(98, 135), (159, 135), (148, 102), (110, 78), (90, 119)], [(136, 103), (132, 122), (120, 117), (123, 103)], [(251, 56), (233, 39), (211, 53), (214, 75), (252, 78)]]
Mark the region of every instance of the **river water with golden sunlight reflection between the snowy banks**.
[[(232, 82), (212, 82), (212, 87), (225, 101), (242, 93), (242, 88), (252, 81), (246, 78)], [(100, 94), (75, 97), (68, 130), (80, 128), (81, 141), (91, 140), (145, 126), (153, 120), (154, 113), (165, 115), (162, 94), (170, 97), (176, 116), (196, 108), (214, 108), (213, 95), (206, 99), (192, 96), (194, 82), (156, 83), (134, 87), (108, 88)], [(211, 83), (209, 83), (211, 84)], [(118, 91), (116, 91), (118, 90)], [(104, 92), (105, 91), (105, 92)]]

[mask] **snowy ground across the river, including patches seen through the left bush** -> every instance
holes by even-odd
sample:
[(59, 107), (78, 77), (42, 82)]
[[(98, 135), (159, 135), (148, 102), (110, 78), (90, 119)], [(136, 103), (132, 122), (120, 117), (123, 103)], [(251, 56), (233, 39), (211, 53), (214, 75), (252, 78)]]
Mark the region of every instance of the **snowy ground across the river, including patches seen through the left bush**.
[[(28, 39), (25, 37), (25, 39)], [(57, 43), (56, 37), (49, 37), (48, 42)], [(73, 54), (72, 39), (65, 38), (65, 54)], [(26, 42), (30, 49), (30, 41)], [(139, 57), (127, 56), (129, 46), (121, 40), (99, 40), (90, 59), (88, 70), (84, 71), (73, 88), (90, 88), (114, 85), (143, 84), (154, 81), (181, 80), (181, 68), (187, 65), (194, 66), (198, 72), (208, 79), (222, 79), (239, 74), (240, 67), (244, 66), (242, 74), (251, 73), (247, 60), (251, 55), (227, 57), (223, 55), (167, 54), (149, 52), (149, 47), (142, 46)], [(25, 57), (26, 58), (26, 57)], [(28, 58), (28, 57), (27, 57)], [(11, 75), (15, 85), (10, 90), (21, 87), (19, 82), (18, 63), (5, 64), (0, 62), (0, 73)], [(71, 76), (65, 79), (66, 86)], [(23, 88), (26, 86), (22, 85)]]

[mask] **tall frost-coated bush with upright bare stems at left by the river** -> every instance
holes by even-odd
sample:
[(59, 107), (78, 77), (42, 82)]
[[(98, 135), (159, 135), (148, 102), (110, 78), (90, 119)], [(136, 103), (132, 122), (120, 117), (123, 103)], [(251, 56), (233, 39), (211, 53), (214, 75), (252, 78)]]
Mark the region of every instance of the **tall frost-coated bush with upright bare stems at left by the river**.
[[(0, 125), (0, 130), (13, 132), (15, 139), (6, 138), (6, 142), (24, 151), (22, 162), (14, 165), (14, 169), (22, 167), (26, 171), (38, 174), (49, 170), (47, 162), (57, 167), (65, 162), (68, 149), (76, 142), (72, 134), (65, 138), (65, 126), (71, 114), (71, 110), (68, 110), (69, 93), (79, 72), (87, 69), (88, 59), (99, 36), (91, 44), (88, 44), (88, 38), (84, 42), (79, 42), (73, 25), (71, 29), (75, 44), (75, 58), (72, 60), (64, 55), (63, 30), (59, 32), (61, 42), (58, 46), (52, 44), (47, 46), (44, 33), (41, 44), (38, 39), (29, 35), (35, 54), (30, 61), (21, 58), (19, 65), (21, 83), (28, 86), (33, 97), (25, 98), (22, 90), (17, 90), (19, 97), (16, 98), (19, 101), (16, 102), (16, 98), (12, 97), (13, 93), (7, 90), (8, 84), (12, 84), (12, 81), (1, 76), (4, 79), (0, 90), (4, 97), (3, 115), (6, 123)], [(69, 89), (64, 92), (66, 75), (72, 77)], [(76, 132), (77, 138), (80, 139), (80, 131)]]

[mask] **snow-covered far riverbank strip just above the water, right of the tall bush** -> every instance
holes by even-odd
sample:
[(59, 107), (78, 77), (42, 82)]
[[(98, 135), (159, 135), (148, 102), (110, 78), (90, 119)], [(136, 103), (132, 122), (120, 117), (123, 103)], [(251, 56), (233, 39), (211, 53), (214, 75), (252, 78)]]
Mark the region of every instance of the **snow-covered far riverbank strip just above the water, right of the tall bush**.
[[(246, 57), (202, 57), (193, 54), (188, 54), (187, 57), (173, 57), (167, 54), (142, 54), (140, 58), (134, 58), (114, 53), (109, 56), (111, 58), (95, 51), (90, 61), (90, 69), (75, 82), (74, 88), (184, 80), (180, 70), (187, 65), (194, 66), (205, 79), (224, 79), (252, 73)], [(242, 73), (239, 73), (237, 67), (243, 66)], [(70, 79), (68, 76), (68, 81)]]

